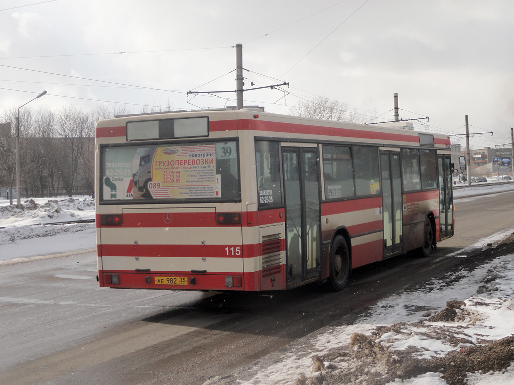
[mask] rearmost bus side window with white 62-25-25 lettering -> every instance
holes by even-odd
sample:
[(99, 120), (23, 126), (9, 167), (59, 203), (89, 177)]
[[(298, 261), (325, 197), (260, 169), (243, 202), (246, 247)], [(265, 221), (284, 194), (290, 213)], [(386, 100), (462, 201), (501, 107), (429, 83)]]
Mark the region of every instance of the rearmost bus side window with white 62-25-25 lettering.
[(259, 207), (282, 204), (278, 142), (255, 142), (255, 169)]

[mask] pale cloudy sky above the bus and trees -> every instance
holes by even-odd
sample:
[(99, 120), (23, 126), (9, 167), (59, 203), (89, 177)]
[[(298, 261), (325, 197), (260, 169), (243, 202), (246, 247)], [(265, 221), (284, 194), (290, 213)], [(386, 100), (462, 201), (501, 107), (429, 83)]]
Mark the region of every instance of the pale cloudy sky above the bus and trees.
[(235, 90), (242, 44), (245, 89), (288, 83), (245, 105), (290, 113), (322, 95), (372, 123), (394, 119), (398, 93), (416, 129), (464, 147), (468, 115), (471, 148), (510, 147), (512, 14), (511, 0), (3, 0), (0, 106), (43, 90), (24, 108), (233, 106), (188, 91)]

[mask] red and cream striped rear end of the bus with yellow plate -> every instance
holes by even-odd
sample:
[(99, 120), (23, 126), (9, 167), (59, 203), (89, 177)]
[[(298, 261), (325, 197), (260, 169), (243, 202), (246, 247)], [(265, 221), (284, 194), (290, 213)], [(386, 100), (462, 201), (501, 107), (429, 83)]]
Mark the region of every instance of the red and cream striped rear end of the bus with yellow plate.
[(255, 290), (244, 279), (237, 115), (226, 114), (98, 122), (100, 286)]

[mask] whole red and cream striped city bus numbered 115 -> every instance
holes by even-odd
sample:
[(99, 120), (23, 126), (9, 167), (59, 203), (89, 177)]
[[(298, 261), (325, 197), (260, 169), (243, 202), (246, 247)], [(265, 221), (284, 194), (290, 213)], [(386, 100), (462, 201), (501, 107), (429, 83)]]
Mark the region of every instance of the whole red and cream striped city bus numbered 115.
[(269, 291), (322, 281), (454, 230), (448, 136), (194, 111), (96, 128), (100, 286)]

